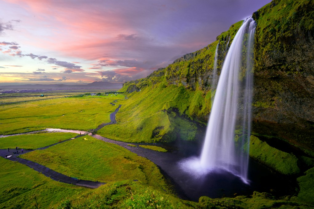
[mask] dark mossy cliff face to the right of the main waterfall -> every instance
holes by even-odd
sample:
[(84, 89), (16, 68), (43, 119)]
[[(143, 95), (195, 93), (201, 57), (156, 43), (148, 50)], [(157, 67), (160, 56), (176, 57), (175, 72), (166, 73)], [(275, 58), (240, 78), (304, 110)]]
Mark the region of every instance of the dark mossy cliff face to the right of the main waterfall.
[(253, 18), (253, 131), (313, 148), (314, 2), (274, 0)]

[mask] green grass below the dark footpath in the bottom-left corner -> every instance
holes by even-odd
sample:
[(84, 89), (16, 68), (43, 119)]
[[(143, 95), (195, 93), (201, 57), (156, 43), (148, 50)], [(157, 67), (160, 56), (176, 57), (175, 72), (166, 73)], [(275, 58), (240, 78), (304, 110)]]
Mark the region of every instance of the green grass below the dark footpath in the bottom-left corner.
[(64, 184), (47, 178), (43, 174), (4, 158), (0, 158), (0, 208), (48, 208), (79, 191), (83, 187)]

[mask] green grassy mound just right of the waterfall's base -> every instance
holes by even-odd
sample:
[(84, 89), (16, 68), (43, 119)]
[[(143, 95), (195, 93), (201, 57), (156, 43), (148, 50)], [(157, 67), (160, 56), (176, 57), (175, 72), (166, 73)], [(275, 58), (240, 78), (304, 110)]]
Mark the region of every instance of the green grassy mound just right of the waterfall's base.
[(250, 137), (249, 155), (282, 174), (300, 173), (298, 158), (295, 155), (270, 147), (266, 142), (262, 142), (253, 135)]

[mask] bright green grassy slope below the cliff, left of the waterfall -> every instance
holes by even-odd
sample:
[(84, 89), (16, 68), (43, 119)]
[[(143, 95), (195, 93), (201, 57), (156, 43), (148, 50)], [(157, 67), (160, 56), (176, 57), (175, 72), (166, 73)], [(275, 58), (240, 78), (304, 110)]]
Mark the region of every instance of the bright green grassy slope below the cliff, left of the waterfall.
[(143, 88), (129, 94), (129, 99), (120, 100), (117, 124), (105, 126), (97, 134), (125, 142), (174, 141), (177, 135), (183, 140), (194, 140), (195, 123), (181, 116), (189, 111), (192, 95), (191, 91), (176, 85)]

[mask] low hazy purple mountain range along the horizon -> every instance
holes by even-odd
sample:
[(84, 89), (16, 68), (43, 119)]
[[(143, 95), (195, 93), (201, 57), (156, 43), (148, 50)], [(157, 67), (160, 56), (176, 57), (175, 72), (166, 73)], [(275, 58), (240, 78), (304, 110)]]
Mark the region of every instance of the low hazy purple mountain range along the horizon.
[(95, 81), (88, 84), (66, 85), (66, 84), (25, 84), (0, 86), (0, 89), (87, 89), (87, 88), (104, 88), (120, 89), (122, 83), (110, 83), (105, 81)]

